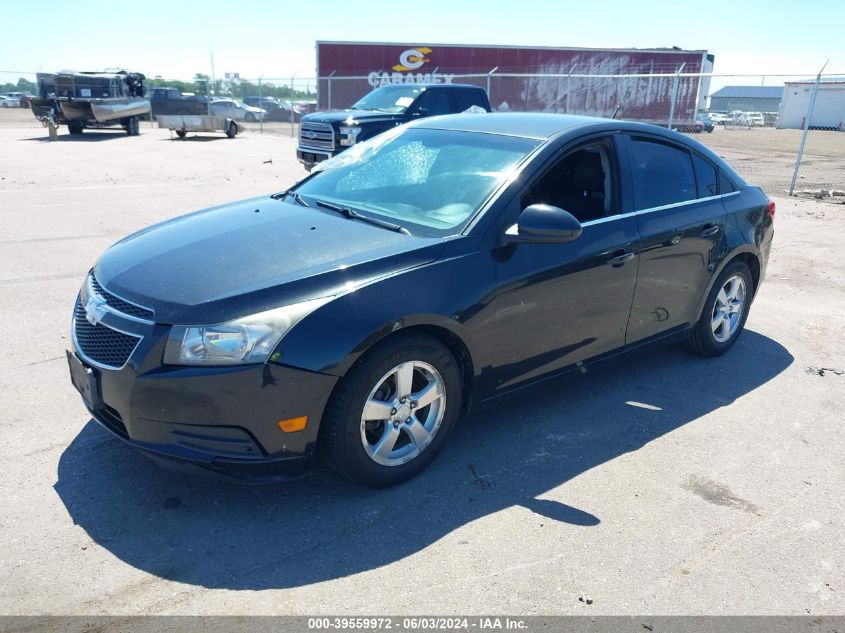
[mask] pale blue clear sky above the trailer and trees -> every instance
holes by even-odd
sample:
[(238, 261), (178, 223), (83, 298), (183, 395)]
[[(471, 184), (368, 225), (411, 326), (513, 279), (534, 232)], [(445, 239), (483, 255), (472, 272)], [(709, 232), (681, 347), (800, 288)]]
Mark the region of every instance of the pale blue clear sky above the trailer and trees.
[(678, 46), (713, 53), (716, 73), (810, 76), (829, 59), (845, 75), (843, 24), (843, 0), (2, 0), (0, 83), (68, 68), (190, 79), (211, 74), (212, 51), (218, 78), (299, 81), (316, 74), (316, 40)]

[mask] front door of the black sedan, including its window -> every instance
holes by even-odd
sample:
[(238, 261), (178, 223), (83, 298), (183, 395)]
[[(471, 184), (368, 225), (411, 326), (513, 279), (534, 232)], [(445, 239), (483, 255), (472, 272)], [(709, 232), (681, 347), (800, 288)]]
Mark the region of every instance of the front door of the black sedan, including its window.
[[(612, 136), (593, 139), (552, 161), (531, 182), (514, 215), (551, 204), (582, 224), (564, 244), (496, 249), (492, 314), (495, 389), (507, 389), (624, 344), (637, 276), (636, 218), (622, 214)], [(513, 213), (514, 211), (512, 211)]]

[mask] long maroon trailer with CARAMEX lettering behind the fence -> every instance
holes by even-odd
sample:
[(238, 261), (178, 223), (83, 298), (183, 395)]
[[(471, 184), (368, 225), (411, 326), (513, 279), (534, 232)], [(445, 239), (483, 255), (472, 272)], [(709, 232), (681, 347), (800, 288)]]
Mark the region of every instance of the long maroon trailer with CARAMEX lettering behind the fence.
[[(681, 67), (684, 73), (712, 72), (713, 56), (679, 49), (317, 42), (321, 109), (348, 107), (385, 84), (473, 83), (487, 87), (486, 75), (495, 68), (498, 75), (526, 75), (491, 77), (490, 102), (496, 110), (610, 116), (621, 106), (621, 118), (659, 123), (668, 118), (672, 75)], [(570, 73), (576, 76), (566, 79)], [(577, 75), (649, 77), (597, 80)], [(704, 107), (708, 86), (706, 79), (681, 78), (674, 120), (691, 121), (696, 109)]]

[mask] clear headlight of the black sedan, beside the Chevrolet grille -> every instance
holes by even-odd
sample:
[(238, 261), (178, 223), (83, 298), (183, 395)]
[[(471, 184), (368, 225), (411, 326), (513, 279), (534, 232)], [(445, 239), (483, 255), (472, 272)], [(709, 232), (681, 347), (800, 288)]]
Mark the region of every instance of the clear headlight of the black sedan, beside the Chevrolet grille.
[(294, 325), (332, 298), (303, 301), (217, 325), (174, 325), (164, 349), (164, 363), (264, 363)]

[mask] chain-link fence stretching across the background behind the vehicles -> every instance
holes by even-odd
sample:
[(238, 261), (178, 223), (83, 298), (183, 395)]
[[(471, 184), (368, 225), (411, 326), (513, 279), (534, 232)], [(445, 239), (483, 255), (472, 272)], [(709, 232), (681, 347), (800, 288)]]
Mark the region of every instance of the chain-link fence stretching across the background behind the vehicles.
[[(648, 74), (369, 73), (326, 72), (191, 80), (148, 77), (147, 87), (246, 103), (240, 111), (252, 132), (296, 137), (299, 120), (315, 110), (351, 106), (382, 85), (468, 83), (483, 87), (495, 111), (554, 112), (641, 121), (693, 135), (725, 157), (749, 182), (773, 194), (790, 191), (845, 201), (845, 76)], [(34, 73), (0, 71), (0, 94), (34, 90)], [(222, 108), (223, 106), (217, 106)], [(154, 125), (154, 123), (153, 123)], [(799, 155), (800, 153), (800, 155)], [(836, 194), (836, 195), (834, 195)]]

